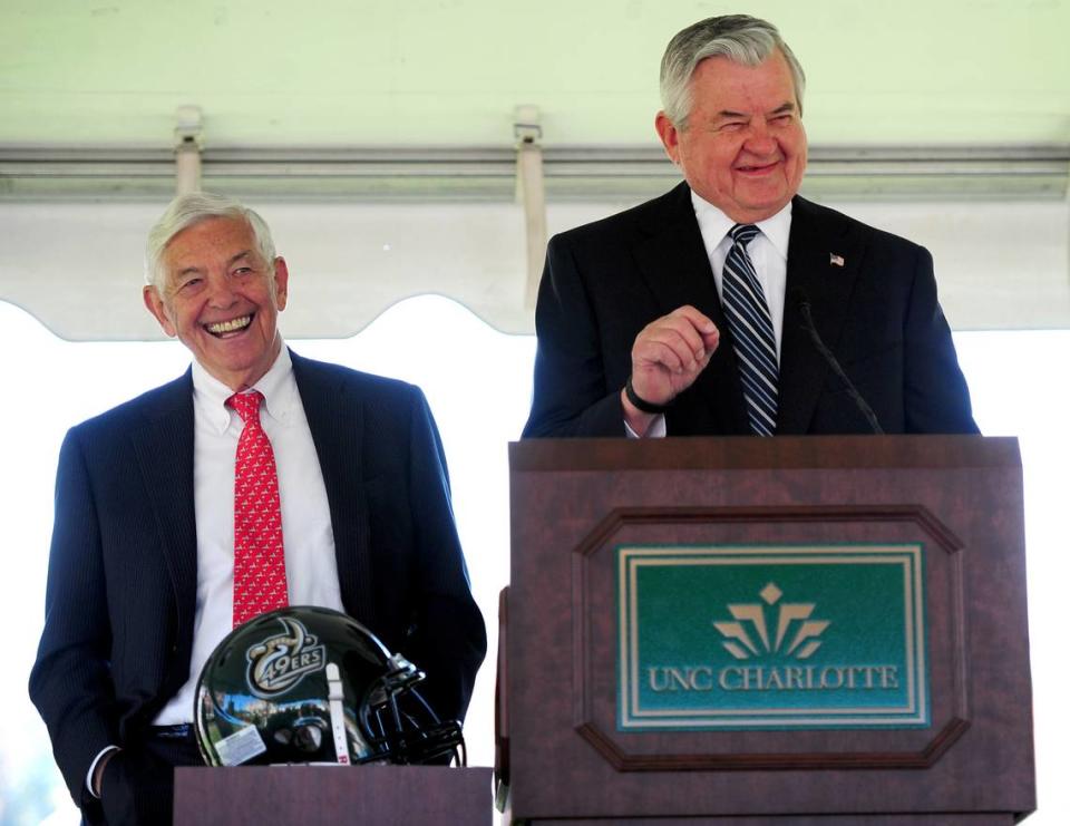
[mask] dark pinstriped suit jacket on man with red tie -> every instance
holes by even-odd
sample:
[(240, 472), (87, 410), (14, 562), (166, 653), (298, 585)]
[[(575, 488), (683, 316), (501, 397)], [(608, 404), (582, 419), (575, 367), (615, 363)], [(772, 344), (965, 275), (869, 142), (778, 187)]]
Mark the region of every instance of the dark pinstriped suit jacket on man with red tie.
[[(323, 472), (347, 613), (422, 668), (463, 719), (486, 652), (438, 430), (400, 381), (292, 354)], [(189, 677), (197, 584), (193, 383), (72, 428), (60, 451), (46, 622), (30, 694), (76, 801)]]

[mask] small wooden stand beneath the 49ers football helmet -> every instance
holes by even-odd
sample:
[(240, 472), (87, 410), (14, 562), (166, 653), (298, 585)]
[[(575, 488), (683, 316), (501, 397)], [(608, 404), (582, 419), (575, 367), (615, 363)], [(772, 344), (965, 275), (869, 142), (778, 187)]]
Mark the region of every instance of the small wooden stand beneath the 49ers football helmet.
[(235, 766), (175, 769), (175, 826), (490, 826), (490, 769)]

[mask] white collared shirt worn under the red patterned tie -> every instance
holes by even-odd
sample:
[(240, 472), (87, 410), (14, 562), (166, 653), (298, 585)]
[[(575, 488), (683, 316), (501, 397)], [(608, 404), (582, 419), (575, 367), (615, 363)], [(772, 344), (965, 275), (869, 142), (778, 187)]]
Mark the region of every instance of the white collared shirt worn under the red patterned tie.
[[(334, 534), (323, 474), (285, 344), (253, 388), (264, 395), (261, 425), (279, 473), (282, 544), (291, 605), (342, 610)], [(197, 525), (197, 603), (189, 679), (153, 720), (193, 720), (197, 679), (231, 631), (234, 604), (234, 456), (244, 422), (225, 401), (226, 385), (193, 362), (193, 497)], [(176, 495), (182, 495), (176, 492)]]

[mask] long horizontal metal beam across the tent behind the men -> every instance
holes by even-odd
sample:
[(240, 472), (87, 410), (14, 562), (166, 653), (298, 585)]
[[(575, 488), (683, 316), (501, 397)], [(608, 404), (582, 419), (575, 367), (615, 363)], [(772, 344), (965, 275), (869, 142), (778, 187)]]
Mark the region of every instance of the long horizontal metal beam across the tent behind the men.
[[(679, 173), (660, 147), (542, 147), (548, 201), (639, 201)], [(205, 148), (205, 190), (245, 198), (512, 201), (515, 147)], [(1061, 200), (1070, 144), (816, 146), (804, 194), (818, 200)], [(173, 147), (0, 146), (0, 200), (169, 198)]]

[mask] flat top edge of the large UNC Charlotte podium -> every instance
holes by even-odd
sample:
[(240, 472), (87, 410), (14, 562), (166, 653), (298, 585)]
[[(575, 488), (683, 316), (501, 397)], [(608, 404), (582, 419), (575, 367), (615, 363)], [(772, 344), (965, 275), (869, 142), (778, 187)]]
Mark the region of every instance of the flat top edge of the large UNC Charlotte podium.
[(1013, 436), (687, 436), (524, 439), (510, 472), (1016, 467)]

